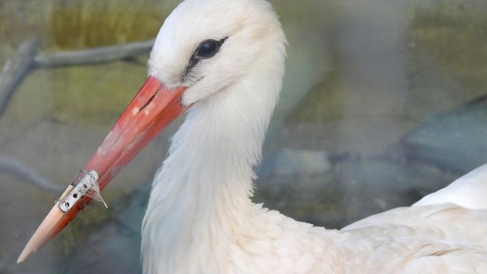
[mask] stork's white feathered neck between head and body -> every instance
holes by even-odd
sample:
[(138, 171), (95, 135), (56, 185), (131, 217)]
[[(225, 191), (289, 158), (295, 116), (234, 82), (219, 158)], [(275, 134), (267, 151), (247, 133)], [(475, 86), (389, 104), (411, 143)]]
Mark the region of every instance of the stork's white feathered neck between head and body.
[(251, 230), (253, 166), (284, 74), (279, 50), (188, 112), (153, 182), (142, 224), (144, 273), (222, 273), (230, 243)]

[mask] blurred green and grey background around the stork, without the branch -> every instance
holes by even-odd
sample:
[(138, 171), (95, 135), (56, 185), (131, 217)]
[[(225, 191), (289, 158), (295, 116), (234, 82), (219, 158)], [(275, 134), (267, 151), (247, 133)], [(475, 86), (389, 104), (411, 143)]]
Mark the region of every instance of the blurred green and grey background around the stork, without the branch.
[[(41, 57), (153, 39), (178, 2), (1, 0), (0, 66), (32, 38)], [(487, 162), (486, 1), (271, 2), (290, 45), (255, 202), (340, 228)], [(140, 273), (150, 181), (184, 118), (105, 188), (108, 210), (92, 202), (15, 262), (142, 85), (147, 58), (32, 69), (0, 96), (0, 273)]]

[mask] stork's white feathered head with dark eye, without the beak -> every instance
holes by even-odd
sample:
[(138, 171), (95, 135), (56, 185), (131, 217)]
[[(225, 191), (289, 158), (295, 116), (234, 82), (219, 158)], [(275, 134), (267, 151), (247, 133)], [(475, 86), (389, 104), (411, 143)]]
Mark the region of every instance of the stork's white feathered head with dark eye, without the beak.
[(186, 0), (164, 22), (149, 59), (149, 75), (184, 86), (190, 105), (238, 82), (269, 47), (286, 38), (263, 0)]

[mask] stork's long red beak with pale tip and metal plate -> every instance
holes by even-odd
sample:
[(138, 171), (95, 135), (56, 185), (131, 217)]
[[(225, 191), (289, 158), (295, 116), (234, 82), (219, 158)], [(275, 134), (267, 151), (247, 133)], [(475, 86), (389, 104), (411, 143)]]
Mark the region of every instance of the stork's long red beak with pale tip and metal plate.
[(55, 205), (25, 245), (17, 262), (45, 245), (102, 190), (134, 158), (188, 107), (181, 96), (186, 88), (166, 90), (149, 76), (125, 112), (116, 121), (95, 154), (68, 185)]

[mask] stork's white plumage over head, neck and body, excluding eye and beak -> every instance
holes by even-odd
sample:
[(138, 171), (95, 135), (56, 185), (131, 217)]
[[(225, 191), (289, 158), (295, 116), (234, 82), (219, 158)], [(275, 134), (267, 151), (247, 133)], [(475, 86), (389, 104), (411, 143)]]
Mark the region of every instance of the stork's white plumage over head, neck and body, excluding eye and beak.
[[(203, 40), (224, 38), (188, 71)], [(149, 74), (194, 105), (153, 182), (144, 273), (487, 273), (487, 166), (340, 231), (251, 202), (285, 47), (264, 0), (186, 0), (166, 19)]]

